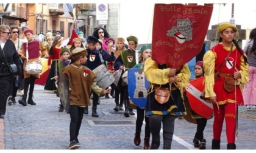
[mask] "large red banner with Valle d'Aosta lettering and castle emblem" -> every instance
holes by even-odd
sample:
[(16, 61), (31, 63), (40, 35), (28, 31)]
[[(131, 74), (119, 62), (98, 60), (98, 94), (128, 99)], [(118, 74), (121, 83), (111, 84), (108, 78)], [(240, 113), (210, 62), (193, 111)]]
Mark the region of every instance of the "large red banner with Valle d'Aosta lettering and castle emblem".
[(213, 5), (155, 4), (152, 59), (179, 69), (202, 49)]

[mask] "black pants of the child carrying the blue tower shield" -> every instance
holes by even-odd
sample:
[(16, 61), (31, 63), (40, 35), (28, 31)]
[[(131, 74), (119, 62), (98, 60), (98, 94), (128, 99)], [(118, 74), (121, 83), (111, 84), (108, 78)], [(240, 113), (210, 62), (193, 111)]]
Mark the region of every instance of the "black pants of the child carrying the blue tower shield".
[(150, 138), (149, 118), (145, 116), (145, 110), (137, 107), (136, 131), (141, 131), (143, 120), (145, 118), (145, 138)]

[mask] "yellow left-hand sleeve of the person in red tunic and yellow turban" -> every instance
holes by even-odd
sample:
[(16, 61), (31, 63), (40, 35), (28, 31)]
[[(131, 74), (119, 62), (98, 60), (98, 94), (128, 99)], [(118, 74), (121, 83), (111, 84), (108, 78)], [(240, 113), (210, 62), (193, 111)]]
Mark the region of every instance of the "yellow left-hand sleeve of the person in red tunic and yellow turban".
[(205, 53), (203, 63), (205, 70), (205, 98), (216, 97), (213, 87), (215, 84), (214, 75), (215, 75), (215, 59), (216, 54), (209, 50)]

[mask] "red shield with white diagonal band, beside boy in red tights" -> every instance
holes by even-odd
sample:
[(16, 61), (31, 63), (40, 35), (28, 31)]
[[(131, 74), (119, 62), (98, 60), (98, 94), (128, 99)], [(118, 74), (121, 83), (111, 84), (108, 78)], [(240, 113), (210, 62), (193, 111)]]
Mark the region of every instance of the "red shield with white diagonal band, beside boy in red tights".
[(213, 114), (213, 104), (207, 103), (200, 98), (204, 90), (204, 77), (191, 80), (186, 87), (186, 93), (190, 107), (194, 112), (204, 118), (211, 118)]

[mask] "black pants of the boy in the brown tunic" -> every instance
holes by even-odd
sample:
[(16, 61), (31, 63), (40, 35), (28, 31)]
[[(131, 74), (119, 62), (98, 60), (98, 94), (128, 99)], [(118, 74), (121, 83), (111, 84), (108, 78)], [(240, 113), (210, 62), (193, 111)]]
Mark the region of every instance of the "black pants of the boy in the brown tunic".
[(82, 119), (84, 117), (84, 107), (79, 107), (76, 105), (70, 105), (70, 125), (69, 125), (69, 135), (70, 141), (77, 140), (79, 135), (80, 126), (82, 124)]

